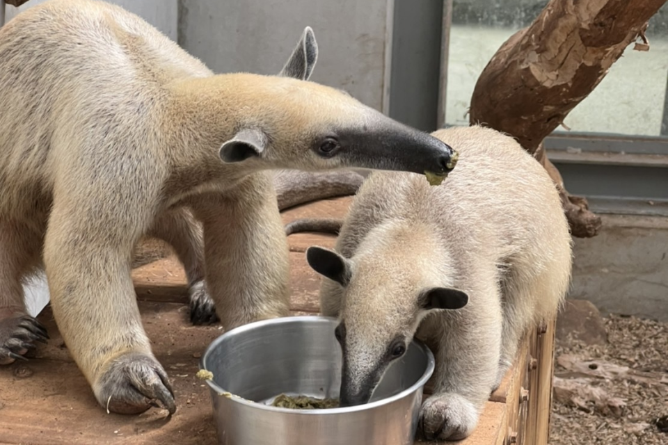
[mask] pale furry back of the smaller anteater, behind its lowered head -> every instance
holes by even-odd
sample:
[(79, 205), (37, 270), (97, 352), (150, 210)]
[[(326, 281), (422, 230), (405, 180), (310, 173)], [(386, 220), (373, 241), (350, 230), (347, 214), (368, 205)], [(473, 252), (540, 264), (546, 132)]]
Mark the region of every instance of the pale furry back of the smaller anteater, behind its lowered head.
[(548, 315), (566, 293), (571, 270), (571, 236), (555, 184), (502, 133), (459, 127), (433, 134), (459, 152), (453, 172), (440, 186), (421, 175), (374, 172), (342, 228), (343, 253), (390, 218), (436, 223), (463, 273), (498, 266), (510, 286), (540, 283), (532, 312)]

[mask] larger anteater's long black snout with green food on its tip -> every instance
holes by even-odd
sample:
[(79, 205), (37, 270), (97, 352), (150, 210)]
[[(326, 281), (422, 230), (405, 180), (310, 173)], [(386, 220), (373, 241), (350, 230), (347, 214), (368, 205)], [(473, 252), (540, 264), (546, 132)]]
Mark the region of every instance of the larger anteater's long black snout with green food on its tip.
[(351, 167), (447, 175), (458, 157), (442, 140), (392, 120), (347, 131), (345, 139), (342, 156)]

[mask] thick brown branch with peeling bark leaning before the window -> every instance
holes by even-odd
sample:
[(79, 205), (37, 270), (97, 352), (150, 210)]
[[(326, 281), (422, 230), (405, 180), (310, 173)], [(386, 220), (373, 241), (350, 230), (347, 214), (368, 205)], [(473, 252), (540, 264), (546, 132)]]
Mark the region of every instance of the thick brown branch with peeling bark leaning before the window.
[[(544, 152), (543, 139), (603, 80), (666, 0), (551, 0), (511, 36), (480, 75), (470, 123), (517, 138), (555, 179), (574, 236), (594, 236), (601, 220), (587, 200), (569, 195)], [(644, 46), (643, 46), (644, 45)]]

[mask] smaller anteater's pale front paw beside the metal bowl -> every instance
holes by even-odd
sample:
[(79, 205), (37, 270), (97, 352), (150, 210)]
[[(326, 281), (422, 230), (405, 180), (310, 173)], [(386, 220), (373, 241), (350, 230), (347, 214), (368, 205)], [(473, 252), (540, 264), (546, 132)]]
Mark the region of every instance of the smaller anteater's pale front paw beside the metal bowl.
[(461, 440), (478, 423), (475, 406), (459, 394), (436, 394), (420, 410), (417, 432), (426, 440)]

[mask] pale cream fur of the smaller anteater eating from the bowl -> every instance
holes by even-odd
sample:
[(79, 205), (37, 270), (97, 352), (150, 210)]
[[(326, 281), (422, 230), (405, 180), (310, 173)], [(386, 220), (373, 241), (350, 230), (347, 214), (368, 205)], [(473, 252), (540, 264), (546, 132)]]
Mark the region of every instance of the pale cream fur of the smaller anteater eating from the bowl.
[[(412, 173), (372, 173), (335, 247), (350, 282), (325, 278), (320, 298), (323, 314), (346, 326), (350, 385), (361, 385), (397, 334), (426, 341), (436, 391), (420, 430), (461, 439), (522, 334), (557, 312), (570, 282), (571, 236), (550, 177), (514, 139), (484, 127), (432, 134), (459, 152), (453, 172), (440, 186)], [(421, 310), (417, 298), (433, 286), (466, 292), (468, 305)]]

